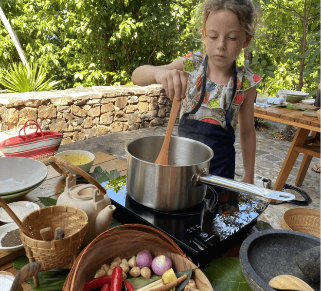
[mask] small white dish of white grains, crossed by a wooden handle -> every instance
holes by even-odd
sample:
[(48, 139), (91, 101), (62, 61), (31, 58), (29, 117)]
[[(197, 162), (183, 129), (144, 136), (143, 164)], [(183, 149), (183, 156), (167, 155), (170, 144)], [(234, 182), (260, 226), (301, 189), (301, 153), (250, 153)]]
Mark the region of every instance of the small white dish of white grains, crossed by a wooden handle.
[[(26, 215), (40, 208), (38, 204), (29, 201), (17, 201), (9, 203), (8, 206), (14, 211), (20, 220), (23, 220)], [(0, 207), (0, 221), (3, 223), (14, 222), (2, 207)]]

